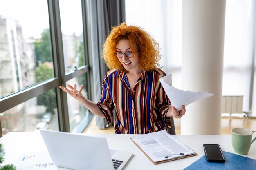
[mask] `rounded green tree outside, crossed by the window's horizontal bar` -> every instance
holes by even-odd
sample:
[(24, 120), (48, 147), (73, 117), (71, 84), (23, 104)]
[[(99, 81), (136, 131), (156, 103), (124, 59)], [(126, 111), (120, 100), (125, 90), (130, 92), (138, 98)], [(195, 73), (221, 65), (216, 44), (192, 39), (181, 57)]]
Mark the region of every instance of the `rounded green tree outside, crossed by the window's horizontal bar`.
[[(54, 72), (52, 68), (49, 68), (47, 64), (40, 64), (36, 68), (36, 82), (43, 82), (46, 79), (54, 77)], [(54, 113), (54, 108), (56, 108), (56, 94), (54, 89), (47, 91), (37, 97), (37, 104), (47, 107), (46, 111)]]

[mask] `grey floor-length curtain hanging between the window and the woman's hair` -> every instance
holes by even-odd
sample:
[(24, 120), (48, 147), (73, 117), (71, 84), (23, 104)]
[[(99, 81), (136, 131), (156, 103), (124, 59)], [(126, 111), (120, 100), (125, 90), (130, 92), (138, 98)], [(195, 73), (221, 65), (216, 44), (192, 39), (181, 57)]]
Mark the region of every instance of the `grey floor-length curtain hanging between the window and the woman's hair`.
[[(102, 57), (102, 45), (112, 26), (124, 22), (124, 0), (88, 0), (89, 44), (91, 44), (94, 102), (101, 97), (101, 84), (108, 71)], [(96, 116), (98, 128), (106, 128), (106, 120)]]

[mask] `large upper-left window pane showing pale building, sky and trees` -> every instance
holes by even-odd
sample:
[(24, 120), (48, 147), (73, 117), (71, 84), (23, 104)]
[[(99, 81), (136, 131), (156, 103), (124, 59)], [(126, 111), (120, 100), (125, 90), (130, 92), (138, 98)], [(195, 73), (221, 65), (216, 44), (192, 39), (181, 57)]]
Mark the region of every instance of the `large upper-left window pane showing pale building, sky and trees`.
[(47, 0), (1, 0), (0, 98), (52, 77)]

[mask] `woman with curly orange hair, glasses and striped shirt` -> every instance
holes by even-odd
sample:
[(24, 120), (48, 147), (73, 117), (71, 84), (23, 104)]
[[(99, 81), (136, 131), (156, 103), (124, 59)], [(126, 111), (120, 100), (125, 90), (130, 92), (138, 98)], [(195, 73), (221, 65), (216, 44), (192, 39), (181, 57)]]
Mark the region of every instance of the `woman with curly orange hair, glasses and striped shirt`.
[(95, 115), (110, 124), (115, 110), (115, 133), (145, 134), (167, 129), (168, 117), (182, 117), (159, 82), (166, 74), (157, 66), (159, 44), (139, 26), (122, 23), (112, 28), (103, 44), (103, 59), (110, 71), (102, 84), (98, 103), (86, 99), (81, 91), (67, 84), (60, 88)]

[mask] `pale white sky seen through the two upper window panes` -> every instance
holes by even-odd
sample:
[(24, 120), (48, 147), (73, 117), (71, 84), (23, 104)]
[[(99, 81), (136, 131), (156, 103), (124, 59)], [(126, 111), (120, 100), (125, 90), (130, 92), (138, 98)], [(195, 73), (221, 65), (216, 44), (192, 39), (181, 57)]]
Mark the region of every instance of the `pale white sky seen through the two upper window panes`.
[[(77, 21), (82, 20), (81, 0), (60, 0), (60, 7), (61, 18), (65, 18), (61, 20), (62, 32), (80, 35), (83, 27)], [(0, 0), (0, 15), (18, 20), (25, 38), (40, 38), (43, 29), (49, 28), (47, 0)]]

